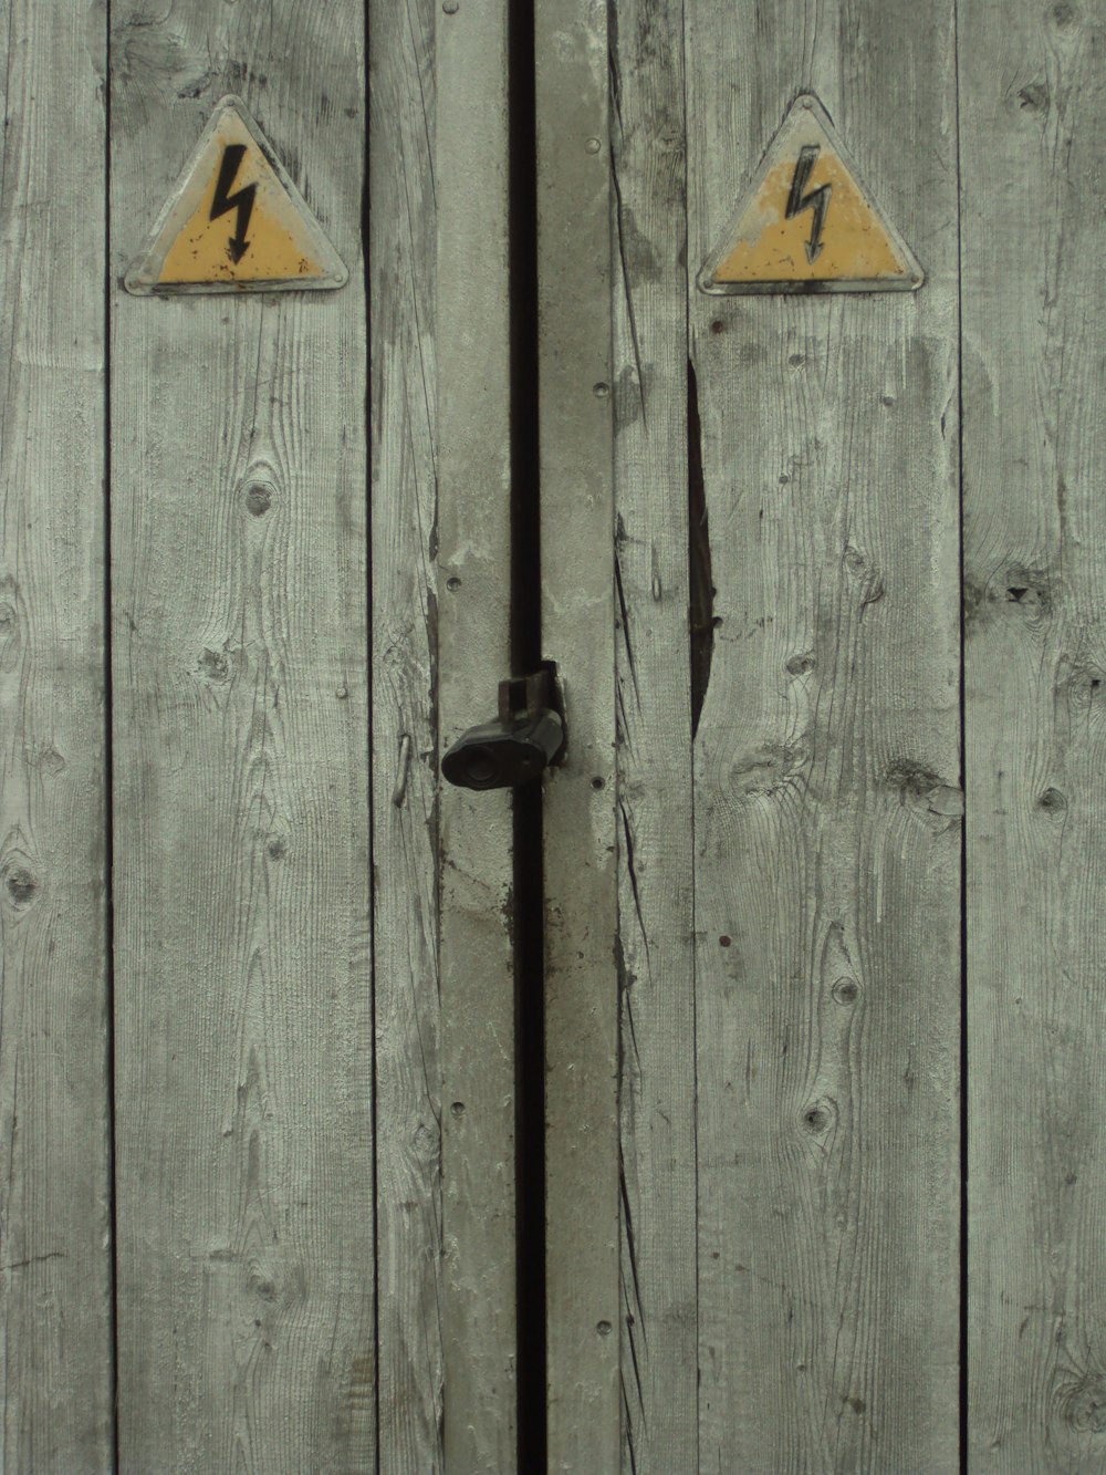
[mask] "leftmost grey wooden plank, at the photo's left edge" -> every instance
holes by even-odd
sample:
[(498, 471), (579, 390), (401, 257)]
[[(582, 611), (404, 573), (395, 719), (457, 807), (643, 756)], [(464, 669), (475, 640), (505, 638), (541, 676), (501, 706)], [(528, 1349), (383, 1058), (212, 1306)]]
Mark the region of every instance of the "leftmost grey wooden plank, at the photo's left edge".
[(105, 16), (0, 32), (0, 1465), (106, 1471)]

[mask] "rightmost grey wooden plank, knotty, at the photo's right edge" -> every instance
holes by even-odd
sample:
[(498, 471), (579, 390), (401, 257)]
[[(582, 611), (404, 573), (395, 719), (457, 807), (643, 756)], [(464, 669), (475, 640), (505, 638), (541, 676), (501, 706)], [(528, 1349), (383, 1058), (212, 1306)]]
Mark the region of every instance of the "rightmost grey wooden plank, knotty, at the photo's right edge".
[(1100, 3), (960, 6), (969, 1454), (988, 1471), (1106, 1460), (1105, 52)]

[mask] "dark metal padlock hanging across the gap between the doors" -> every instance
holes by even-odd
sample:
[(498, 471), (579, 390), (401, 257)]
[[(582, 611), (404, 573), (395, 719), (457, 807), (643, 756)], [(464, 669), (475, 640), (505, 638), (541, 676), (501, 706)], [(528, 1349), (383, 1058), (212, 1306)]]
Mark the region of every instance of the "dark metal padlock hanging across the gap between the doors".
[(512, 789), (540, 779), (565, 751), (556, 665), (500, 681), (494, 723), (469, 727), (442, 757), (442, 777), (463, 789)]

